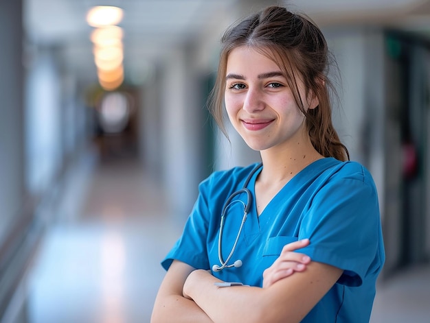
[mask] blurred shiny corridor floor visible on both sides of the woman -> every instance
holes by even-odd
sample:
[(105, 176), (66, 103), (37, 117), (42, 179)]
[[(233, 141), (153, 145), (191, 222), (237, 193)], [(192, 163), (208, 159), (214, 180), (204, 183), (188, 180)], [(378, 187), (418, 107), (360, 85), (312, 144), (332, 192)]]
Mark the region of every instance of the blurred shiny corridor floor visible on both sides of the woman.
[[(82, 169), (30, 272), (28, 322), (149, 322), (164, 274), (159, 262), (183, 223), (172, 221), (161, 188), (138, 163)], [(429, 287), (430, 268), (388, 280), (371, 322), (430, 322)]]

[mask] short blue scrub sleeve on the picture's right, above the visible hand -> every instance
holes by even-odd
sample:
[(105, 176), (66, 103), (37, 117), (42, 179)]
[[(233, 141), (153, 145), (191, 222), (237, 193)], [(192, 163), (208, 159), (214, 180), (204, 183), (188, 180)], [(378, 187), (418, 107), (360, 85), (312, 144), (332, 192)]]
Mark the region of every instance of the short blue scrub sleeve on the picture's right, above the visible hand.
[(299, 252), (344, 272), (338, 283), (360, 286), (382, 266), (378, 197), (370, 174), (330, 180), (317, 192), (304, 216), (299, 239), (310, 245)]

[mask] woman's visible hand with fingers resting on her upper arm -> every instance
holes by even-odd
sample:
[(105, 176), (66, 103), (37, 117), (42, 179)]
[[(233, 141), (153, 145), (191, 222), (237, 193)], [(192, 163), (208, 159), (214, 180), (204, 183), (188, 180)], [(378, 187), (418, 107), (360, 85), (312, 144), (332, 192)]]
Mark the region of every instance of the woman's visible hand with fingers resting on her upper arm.
[(291, 276), (294, 272), (303, 272), (310, 263), (310, 257), (294, 250), (308, 246), (309, 239), (302, 239), (288, 243), (278, 259), (263, 272), (263, 288), (267, 288), (278, 280)]

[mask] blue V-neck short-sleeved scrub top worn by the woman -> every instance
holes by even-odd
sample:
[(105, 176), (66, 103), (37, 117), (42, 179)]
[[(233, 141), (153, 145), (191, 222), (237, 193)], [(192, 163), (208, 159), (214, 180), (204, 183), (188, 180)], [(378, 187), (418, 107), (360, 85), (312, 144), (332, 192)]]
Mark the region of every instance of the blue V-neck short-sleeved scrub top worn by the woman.
[[(229, 195), (242, 189), (257, 164), (216, 171), (199, 185), (199, 198), (183, 235), (163, 260), (168, 270), (173, 259), (196, 269), (220, 265), (220, 217)], [(260, 167), (247, 188), (254, 194)], [(238, 233), (246, 194), (227, 208), (223, 230), (223, 259), (227, 259)], [(221, 280), (262, 286), (262, 273), (278, 258), (287, 243), (310, 239), (297, 250), (313, 261), (343, 270), (341, 278), (302, 322), (369, 322), (376, 278), (385, 261), (378, 195), (370, 173), (355, 162), (323, 158), (292, 178), (257, 215), (255, 200), (229, 264), (242, 267), (212, 274)]]

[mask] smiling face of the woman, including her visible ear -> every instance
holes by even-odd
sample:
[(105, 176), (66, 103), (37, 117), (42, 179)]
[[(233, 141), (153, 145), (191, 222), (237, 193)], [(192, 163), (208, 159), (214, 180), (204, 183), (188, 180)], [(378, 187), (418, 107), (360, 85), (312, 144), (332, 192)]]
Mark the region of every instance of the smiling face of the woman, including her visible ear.
[[(229, 54), (225, 77), (227, 114), (249, 147), (297, 147), (308, 140), (304, 115), (273, 60), (250, 47), (238, 47)], [(315, 108), (317, 102), (310, 100), (309, 106), (304, 87), (298, 85), (305, 110)]]

